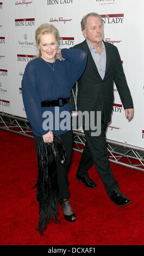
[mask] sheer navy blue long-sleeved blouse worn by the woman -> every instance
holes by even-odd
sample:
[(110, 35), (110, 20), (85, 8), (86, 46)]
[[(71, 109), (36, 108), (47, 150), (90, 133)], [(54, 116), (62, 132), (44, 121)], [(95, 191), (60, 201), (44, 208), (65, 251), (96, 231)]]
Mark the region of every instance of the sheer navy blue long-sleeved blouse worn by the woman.
[[(22, 79), (24, 108), (33, 133), (42, 137), (49, 130), (55, 135), (71, 130), (71, 107), (41, 107), (42, 101), (70, 97), (71, 89), (83, 74), (87, 53), (80, 49), (61, 49), (65, 60), (47, 63), (42, 58), (31, 60)], [(54, 70), (52, 68), (54, 66)]]

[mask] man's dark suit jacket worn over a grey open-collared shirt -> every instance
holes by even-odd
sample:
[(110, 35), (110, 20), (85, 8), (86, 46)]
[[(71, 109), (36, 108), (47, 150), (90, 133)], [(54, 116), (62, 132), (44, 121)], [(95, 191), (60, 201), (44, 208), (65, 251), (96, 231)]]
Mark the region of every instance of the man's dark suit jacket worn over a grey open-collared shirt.
[[(96, 111), (104, 112), (104, 123), (107, 124), (111, 119), (114, 101), (114, 82), (124, 109), (133, 108), (133, 100), (123, 72), (117, 47), (109, 42), (104, 42), (104, 45), (107, 54), (107, 63), (103, 80), (98, 73), (86, 40), (75, 45), (73, 48), (80, 48), (87, 52), (86, 68), (78, 80), (77, 110), (82, 112), (95, 111), (95, 113)], [(72, 111), (74, 110), (72, 103)]]

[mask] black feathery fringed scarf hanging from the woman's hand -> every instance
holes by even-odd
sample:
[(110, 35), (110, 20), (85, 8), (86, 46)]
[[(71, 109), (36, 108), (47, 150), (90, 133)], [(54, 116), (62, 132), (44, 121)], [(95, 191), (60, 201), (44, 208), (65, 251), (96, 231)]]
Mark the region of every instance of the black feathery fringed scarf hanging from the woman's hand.
[(53, 143), (44, 143), (43, 138), (39, 145), (39, 159), (37, 170), (36, 199), (39, 202), (40, 234), (51, 222), (57, 223), (59, 188), (57, 180), (57, 164), (64, 164), (66, 160), (65, 148), (59, 136), (54, 135)]

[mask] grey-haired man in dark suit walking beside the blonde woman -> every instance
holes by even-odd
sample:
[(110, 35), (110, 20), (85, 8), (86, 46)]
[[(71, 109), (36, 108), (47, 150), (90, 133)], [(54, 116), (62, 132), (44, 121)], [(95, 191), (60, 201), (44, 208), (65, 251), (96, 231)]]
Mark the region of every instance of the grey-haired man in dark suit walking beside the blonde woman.
[[(101, 135), (91, 136), (90, 127), (87, 130), (83, 122), (86, 143), (76, 178), (87, 187), (96, 187), (87, 173), (94, 163), (111, 201), (118, 206), (124, 206), (129, 204), (130, 200), (121, 193), (118, 182), (112, 175), (105, 139), (114, 101), (114, 82), (129, 121), (133, 118), (133, 101), (117, 47), (102, 40), (104, 33), (101, 16), (96, 13), (87, 14), (83, 17), (81, 26), (86, 39), (74, 48), (81, 48), (87, 52), (87, 65), (78, 80), (77, 110), (89, 113), (95, 111), (95, 120), (97, 112), (101, 111)], [(73, 102), (73, 99), (71, 100)]]

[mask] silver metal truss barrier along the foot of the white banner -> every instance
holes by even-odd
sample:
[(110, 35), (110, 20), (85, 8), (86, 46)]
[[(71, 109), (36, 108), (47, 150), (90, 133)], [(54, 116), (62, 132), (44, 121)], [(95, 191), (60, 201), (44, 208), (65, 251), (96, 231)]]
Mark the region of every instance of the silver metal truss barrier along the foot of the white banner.
[[(34, 138), (27, 118), (0, 112), (0, 129)], [(74, 151), (83, 153), (85, 135), (83, 131), (73, 130)], [(107, 139), (109, 161), (144, 172), (144, 149)]]

